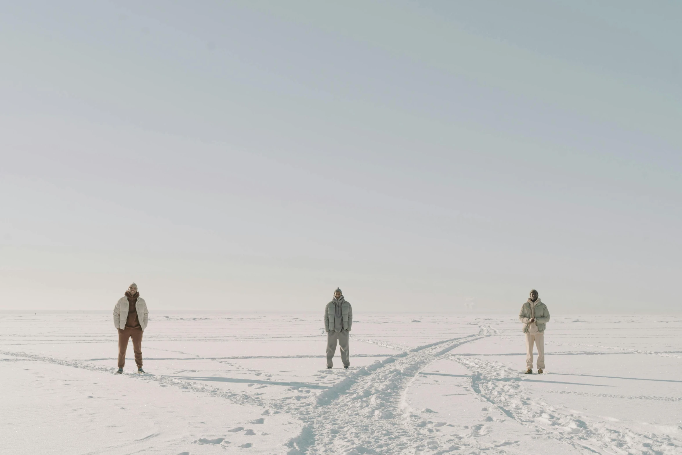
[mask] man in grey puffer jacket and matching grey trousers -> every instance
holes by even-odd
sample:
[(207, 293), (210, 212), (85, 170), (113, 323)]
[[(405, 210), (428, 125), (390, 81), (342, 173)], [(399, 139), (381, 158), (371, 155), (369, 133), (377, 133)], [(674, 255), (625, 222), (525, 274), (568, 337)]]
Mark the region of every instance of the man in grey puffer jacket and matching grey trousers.
[(351, 304), (344, 299), (341, 289), (336, 288), (334, 291), (334, 298), (325, 307), (325, 332), (327, 332), (327, 368), (331, 368), (333, 364), (331, 359), (336, 353), (336, 343), (338, 342), (341, 349), (341, 362), (343, 367), (351, 366), (349, 359), (351, 351), (349, 351), (349, 333), (351, 332), (351, 325), (353, 325), (353, 308)]

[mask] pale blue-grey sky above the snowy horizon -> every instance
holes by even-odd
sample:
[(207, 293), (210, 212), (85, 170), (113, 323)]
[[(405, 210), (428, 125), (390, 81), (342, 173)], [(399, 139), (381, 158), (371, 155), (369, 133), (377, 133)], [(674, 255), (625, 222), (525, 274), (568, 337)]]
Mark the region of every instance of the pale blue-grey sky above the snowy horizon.
[(679, 1), (17, 1), (0, 309), (679, 312)]

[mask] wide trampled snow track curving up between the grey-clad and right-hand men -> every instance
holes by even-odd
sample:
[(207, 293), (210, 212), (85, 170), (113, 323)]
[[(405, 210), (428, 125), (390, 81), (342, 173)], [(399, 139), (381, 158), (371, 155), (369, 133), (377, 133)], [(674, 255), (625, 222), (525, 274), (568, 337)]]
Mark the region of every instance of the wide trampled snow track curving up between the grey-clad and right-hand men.
[[(288, 442), (288, 455), (447, 453), (458, 445), (439, 441), (426, 421), (409, 413), (405, 392), (424, 366), (462, 344), (490, 336), (479, 333), (418, 347), (360, 368), (317, 396), (317, 406), (282, 409), (304, 422)], [(438, 452), (436, 452), (438, 451)]]

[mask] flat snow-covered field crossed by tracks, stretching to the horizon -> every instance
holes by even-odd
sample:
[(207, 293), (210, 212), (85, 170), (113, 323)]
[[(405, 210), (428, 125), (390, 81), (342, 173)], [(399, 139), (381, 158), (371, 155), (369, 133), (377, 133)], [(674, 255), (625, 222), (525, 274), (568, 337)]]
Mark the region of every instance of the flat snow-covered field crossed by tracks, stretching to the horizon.
[[(551, 309), (551, 306), (550, 306)], [(109, 312), (0, 313), (2, 454), (682, 454), (682, 318), (155, 312), (115, 375)]]

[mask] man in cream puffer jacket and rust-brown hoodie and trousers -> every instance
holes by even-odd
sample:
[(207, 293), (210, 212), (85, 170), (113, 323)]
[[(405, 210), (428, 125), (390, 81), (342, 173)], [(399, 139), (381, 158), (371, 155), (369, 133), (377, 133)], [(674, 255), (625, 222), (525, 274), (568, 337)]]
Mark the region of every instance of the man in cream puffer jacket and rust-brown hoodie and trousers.
[(140, 297), (137, 284), (130, 284), (125, 295), (116, 302), (114, 307), (114, 327), (119, 332), (119, 370), (123, 372), (125, 366), (125, 351), (128, 349), (128, 339), (132, 338), (132, 349), (135, 353), (137, 370), (142, 370), (142, 334), (147, 328), (149, 311), (147, 302)]

